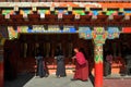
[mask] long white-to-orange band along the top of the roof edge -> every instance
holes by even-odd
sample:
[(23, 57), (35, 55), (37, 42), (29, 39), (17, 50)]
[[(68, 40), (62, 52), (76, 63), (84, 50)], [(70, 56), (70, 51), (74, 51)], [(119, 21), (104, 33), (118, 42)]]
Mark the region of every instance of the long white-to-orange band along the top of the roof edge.
[(109, 2), (0, 2), (0, 7), (87, 7), (87, 8), (131, 8), (131, 3)]

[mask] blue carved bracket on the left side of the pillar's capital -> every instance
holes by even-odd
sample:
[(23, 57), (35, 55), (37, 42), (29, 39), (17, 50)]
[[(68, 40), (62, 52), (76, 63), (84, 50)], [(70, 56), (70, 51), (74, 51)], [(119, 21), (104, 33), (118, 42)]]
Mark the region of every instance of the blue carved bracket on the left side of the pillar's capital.
[(80, 38), (91, 39), (92, 30), (88, 26), (79, 27), (79, 36)]

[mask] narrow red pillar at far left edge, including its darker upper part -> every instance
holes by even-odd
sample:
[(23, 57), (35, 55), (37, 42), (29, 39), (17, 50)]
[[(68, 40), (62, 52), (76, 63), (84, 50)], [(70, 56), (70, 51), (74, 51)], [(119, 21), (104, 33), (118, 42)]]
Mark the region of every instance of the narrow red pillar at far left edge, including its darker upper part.
[(0, 46), (0, 87), (3, 87), (3, 47)]

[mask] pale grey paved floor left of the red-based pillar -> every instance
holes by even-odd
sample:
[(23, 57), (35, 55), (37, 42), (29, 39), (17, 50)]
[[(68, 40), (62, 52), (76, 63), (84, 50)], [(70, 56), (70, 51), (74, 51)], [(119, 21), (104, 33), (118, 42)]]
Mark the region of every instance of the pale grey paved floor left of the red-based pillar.
[(70, 80), (72, 76), (73, 76), (72, 74), (61, 78), (57, 78), (56, 75), (49, 75), (48, 77), (44, 78), (33, 76), (24, 84), (22, 84), (24, 79), (17, 79), (13, 80), (12, 83), (5, 83), (4, 87), (93, 87), (93, 84), (90, 79), (88, 82), (81, 80), (72, 82)]

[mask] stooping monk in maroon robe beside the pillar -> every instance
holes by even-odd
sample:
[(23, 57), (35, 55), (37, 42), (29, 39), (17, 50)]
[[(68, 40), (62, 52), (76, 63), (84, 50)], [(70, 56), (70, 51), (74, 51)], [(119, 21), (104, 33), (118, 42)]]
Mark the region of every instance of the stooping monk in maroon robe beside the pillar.
[(85, 57), (82, 52), (79, 51), (78, 48), (74, 49), (76, 53), (73, 57), (76, 60), (75, 73), (71, 80), (83, 80), (86, 82), (88, 79), (88, 62), (85, 60)]

